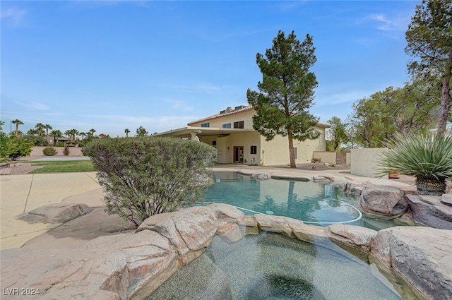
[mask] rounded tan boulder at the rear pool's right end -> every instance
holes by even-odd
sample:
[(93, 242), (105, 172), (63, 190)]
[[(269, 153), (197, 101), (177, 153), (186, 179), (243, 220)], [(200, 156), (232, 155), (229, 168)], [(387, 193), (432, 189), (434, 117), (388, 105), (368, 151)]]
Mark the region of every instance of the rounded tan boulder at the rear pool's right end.
[(395, 186), (365, 186), (359, 196), (359, 209), (373, 215), (399, 217), (408, 210), (408, 201)]

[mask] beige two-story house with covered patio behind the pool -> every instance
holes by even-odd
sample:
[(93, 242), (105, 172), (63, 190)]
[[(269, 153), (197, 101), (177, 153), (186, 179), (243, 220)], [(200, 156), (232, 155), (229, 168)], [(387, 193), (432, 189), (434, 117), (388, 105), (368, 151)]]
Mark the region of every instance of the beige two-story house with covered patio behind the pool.
[[(253, 128), (256, 111), (251, 105), (235, 107), (219, 114), (193, 121), (187, 127), (156, 133), (155, 136), (199, 139), (217, 148), (217, 162), (224, 164), (288, 164), (289, 142), (287, 136), (275, 136), (267, 141)], [(321, 135), (316, 140), (294, 140), (297, 163), (311, 162), (313, 151), (325, 151), (326, 124), (315, 126)]]

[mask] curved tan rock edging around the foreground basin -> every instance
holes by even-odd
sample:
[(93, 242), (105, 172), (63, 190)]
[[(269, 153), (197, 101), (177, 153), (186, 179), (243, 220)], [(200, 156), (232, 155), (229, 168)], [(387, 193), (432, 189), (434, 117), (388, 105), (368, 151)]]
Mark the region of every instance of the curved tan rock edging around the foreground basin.
[[(355, 249), (381, 268), (395, 271), (426, 299), (452, 299), (451, 231), (316, 227), (288, 217), (244, 216), (220, 203), (155, 215), (136, 232), (100, 236), (76, 248), (3, 250), (2, 288), (39, 289), (39, 295), (28, 299), (145, 299), (180, 266), (200, 256), (215, 234), (234, 242), (259, 230), (333, 250), (335, 244)], [(4, 299), (23, 297), (11, 294)]]

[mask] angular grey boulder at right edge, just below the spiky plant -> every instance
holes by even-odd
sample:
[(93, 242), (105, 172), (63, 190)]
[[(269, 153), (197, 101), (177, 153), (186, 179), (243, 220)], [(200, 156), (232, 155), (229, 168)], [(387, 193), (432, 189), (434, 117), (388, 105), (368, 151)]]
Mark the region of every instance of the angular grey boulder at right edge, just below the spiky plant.
[[(444, 194), (447, 201), (448, 194)], [(407, 195), (412, 218), (421, 224), (439, 229), (452, 229), (452, 207), (439, 196)]]

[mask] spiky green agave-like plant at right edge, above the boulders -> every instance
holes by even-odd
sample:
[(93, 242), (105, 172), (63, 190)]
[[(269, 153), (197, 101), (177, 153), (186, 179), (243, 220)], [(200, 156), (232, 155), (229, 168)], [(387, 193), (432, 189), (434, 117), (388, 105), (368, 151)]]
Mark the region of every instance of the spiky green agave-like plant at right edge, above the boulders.
[(446, 193), (446, 179), (452, 178), (452, 134), (415, 133), (403, 136), (396, 133), (386, 143), (378, 162), (379, 174), (400, 172), (416, 177), (417, 193), (441, 196)]

